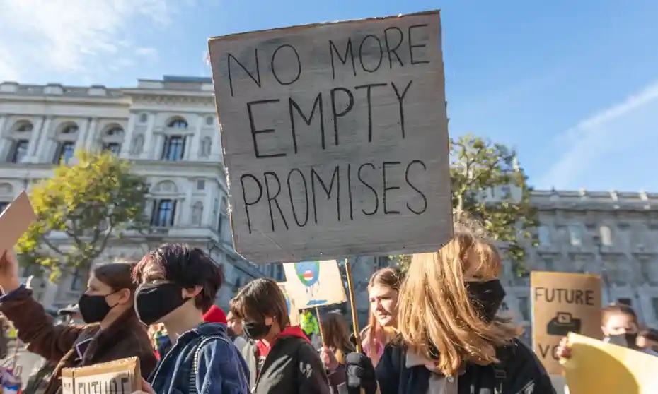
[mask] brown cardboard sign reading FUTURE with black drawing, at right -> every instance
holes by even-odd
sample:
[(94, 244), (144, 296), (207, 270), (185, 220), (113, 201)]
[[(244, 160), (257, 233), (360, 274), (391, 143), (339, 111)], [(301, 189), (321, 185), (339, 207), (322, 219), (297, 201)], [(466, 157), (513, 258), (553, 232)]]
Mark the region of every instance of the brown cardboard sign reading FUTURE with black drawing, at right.
[(549, 374), (561, 374), (555, 350), (569, 333), (601, 338), (601, 277), (530, 274), (533, 350)]

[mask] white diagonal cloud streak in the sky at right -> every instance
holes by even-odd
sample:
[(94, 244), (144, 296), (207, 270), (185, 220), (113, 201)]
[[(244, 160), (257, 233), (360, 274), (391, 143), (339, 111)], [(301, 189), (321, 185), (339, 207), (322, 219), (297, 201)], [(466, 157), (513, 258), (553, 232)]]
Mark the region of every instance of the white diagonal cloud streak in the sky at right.
[(575, 183), (584, 181), (599, 164), (633, 155), (634, 149), (654, 138), (657, 130), (658, 82), (555, 138), (561, 154), (537, 184), (541, 188), (579, 187)]

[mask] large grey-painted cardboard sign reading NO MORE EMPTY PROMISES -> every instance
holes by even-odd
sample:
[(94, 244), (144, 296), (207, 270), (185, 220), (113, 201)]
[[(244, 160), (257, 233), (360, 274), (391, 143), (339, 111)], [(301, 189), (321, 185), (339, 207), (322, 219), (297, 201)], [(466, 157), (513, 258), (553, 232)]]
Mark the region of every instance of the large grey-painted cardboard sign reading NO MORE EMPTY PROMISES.
[(439, 11), (209, 40), (236, 251), (437, 251), (452, 233)]

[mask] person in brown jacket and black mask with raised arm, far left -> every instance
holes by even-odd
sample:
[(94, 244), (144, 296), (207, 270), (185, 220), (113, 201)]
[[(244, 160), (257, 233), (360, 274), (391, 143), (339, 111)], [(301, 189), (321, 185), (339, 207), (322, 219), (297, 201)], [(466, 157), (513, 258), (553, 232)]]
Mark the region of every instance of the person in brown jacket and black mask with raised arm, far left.
[(28, 351), (39, 354), (57, 367), (46, 394), (60, 390), (63, 368), (90, 366), (126, 357), (139, 357), (142, 376), (156, 364), (146, 328), (133, 309), (132, 264), (110, 263), (93, 269), (80, 313), (86, 326), (54, 326), (32, 291), (18, 280), (16, 256), (6, 251), (0, 259), (0, 312), (13, 321)]

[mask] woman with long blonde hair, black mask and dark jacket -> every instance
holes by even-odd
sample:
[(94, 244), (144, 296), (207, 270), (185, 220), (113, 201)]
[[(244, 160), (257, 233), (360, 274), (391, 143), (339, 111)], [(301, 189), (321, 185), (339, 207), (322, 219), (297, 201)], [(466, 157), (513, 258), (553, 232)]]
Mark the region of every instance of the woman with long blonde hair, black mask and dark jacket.
[(350, 390), (381, 394), (533, 393), (555, 390), (518, 328), (496, 316), (504, 298), (495, 246), (457, 233), (437, 253), (412, 257), (398, 299), (400, 335), (375, 371), (347, 357)]

